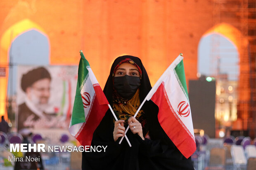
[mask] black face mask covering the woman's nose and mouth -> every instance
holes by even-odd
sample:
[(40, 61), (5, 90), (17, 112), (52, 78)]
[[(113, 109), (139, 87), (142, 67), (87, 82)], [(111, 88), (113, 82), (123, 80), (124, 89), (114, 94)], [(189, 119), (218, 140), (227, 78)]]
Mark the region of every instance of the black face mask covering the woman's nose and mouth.
[(130, 99), (136, 93), (140, 86), (140, 77), (135, 76), (121, 76), (114, 77), (114, 88), (117, 93), (125, 99)]

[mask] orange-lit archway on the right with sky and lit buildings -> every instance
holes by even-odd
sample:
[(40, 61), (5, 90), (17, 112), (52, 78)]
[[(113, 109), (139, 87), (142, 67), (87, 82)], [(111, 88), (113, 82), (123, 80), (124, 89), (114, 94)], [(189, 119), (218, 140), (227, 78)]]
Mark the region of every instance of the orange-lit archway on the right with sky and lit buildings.
[[(204, 47), (206, 44), (211, 46), (208, 51)], [(217, 79), (215, 116), (221, 120), (216, 124), (220, 128), (247, 129), (244, 122), (249, 114), (249, 64), (248, 40), (237, 28), (220, 23), (202, 36), (198, 72)], [(243, 123), (238, 126), (236, 118)]]

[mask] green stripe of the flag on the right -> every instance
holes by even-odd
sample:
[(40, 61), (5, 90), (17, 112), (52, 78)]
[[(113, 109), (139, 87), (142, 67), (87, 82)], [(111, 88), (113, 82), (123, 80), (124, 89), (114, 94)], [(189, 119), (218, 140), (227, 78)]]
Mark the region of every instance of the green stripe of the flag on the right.
[(183, 60), (180, 61), (180, 63), (174, 68), (174, 74), (177, 77), (177, 80), (180, 84), (180, 88), (182, 88), (182, 90), (187, 98), (187, 101), (189, 101)]

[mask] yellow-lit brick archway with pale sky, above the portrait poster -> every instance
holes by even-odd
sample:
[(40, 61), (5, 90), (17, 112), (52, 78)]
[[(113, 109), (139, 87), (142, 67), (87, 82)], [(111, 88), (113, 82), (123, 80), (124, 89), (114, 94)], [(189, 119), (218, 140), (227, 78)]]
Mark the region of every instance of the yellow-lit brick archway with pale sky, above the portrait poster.
[[(36, 46), (38, 47), (36, 48)], [(35, 62), (40, 61), (40, 58), (42, 58), (41, 54), (37, 54), (37, 50), (39, 50), (39, 53), (47, 55), (44, 57), (47, 58), (46, 61), (48, 61), (49, 63), (49, 39), (45, 34), (43, 28), (41, 28), (38, 24), (34, 23), (29, 19), (24, 19), (13, 24), (2, 34), (0, 44), (0, 63), (2, 64), (1, 68), (5, 70), (5, 75), (0, 77), (0, 115), (5, 115), (5, 117), (7, 117), (6, 102), (8, 81), (10, 80), (12, 82), (12, 86), (10, 86), (10, 88), (14, 88), (15, 86), (15, 84), (13, 83), (13, 79), (15, 79), (15, 77), (12, 76), (13, 79), (8, 80), (10, 66), (9, 64), (14, 64), (14, 62), (16, 62), (15, 65), (25, 63), (36, 64)], [(24, 51), (26, 52), (24, 53)], [(35, 58), (34, 56), (39, 57)], [(37, 58), (39, 60), (37, 60)], [(10, 71), (12, 71), (12, 69)], [(12, 93), (14, 92), (15, 91), (13, 91)]]

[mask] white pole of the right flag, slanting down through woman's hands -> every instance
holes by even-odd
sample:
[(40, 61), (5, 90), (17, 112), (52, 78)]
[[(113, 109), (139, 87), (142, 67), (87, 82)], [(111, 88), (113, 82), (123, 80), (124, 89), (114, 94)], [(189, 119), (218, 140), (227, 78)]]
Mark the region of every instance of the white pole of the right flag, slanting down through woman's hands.
[[(173, 69), (176, 67), (176, 65), (178, 63), (180, 63), (180, 61), (183, 59), (183, 54), (180, 53), (180, 55), (173, 61), (173, 63), (171, 63), (171, 65), (169, 65), (169, 67), (165, 70), (165, 72), (163, 73), (163, 75), (161, 75), (161, 77), (157, 80), (157, 82), (154, 84), (154, 86), (152, 87), (152, 89), (149, 91), (149, 93), (147, 94), (146, 98), (143, 100), (143, 102), (141, 103), (140, 107), (137, 109), (137, 112), (134, 114), (133, 117), (136, 117), (138, 112), (140, 111), (142, 105), (144, 105), (145, 101), (146, 100), (150, 100), (152, 98), (152, 95), (154, 95), (154, 93), (156, 92), (158, 86), (161, 84), (161, 80), (162, 80), (162, 77), (164, 77), (165, 73), (167, 72), (167, 70), (169, 69)], [(127, 133), (129, 129), (129, 126), (126, 128), (126, 132), (125, 134)], [(121, 138), (121, 140), (119, 141), (119, 144), (121, 144), (121, 142), (123, 141), (123, 137)]]

